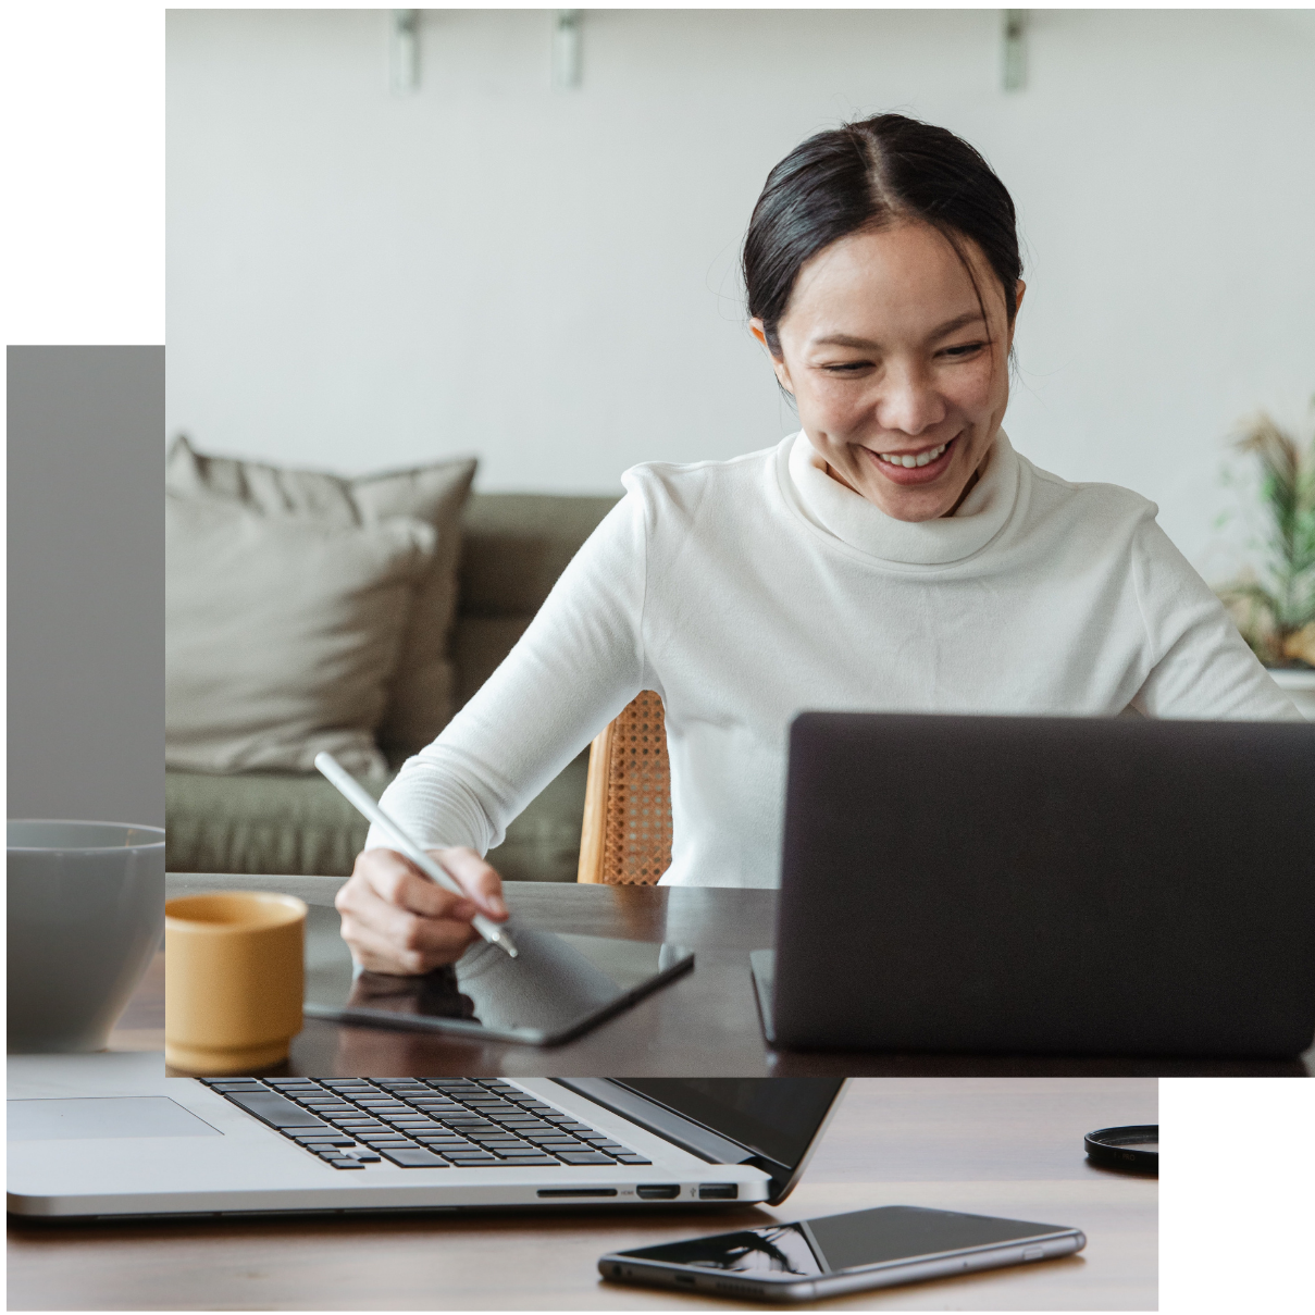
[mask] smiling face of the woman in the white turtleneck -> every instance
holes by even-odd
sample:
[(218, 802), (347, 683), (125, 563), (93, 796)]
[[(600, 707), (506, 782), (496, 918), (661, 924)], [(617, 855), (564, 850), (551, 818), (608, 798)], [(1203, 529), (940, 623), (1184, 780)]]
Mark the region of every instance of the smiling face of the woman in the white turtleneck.
[[(949, 242), (902, 222), (819, 251), (778, 325), (776, 377), (803, 431), (835, 479), (897, 521), (957, 508), (1009, 404), (1005, 296), (963, 245), (986, 321)], [(765, 345), (763, 322), (751, 327)]]

